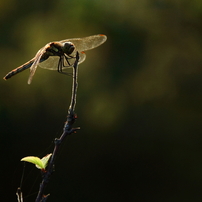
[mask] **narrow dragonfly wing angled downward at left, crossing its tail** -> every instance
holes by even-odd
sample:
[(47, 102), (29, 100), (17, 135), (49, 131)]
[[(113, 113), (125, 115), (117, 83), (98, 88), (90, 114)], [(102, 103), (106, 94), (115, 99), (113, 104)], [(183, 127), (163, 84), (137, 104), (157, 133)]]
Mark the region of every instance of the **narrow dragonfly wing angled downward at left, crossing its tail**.
[(33, 76), (34, 76), (34, 74), (36, 72), (36, 69), (37, 69), (37, 66), (38, 66), (38, 64), (39, 64), (39, 62), (41, 60), (41, 57), (45, 53), (45, 50), (46, 50), (45, 48), (46, 48), (46, 46), (44, 46), (43, 48), (41, 48), (37, 52), (36, 56), (34, 57), (34, 62), (32, 64), (32, 66), (30, 67), (30, 75), (29, 75), (29, 78), (28, 78), (28, 84), (31, 84), (31, 82), (32, 82), (32, 78), (33, 78)]

